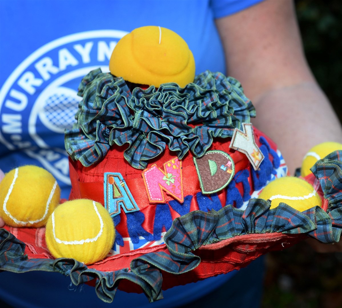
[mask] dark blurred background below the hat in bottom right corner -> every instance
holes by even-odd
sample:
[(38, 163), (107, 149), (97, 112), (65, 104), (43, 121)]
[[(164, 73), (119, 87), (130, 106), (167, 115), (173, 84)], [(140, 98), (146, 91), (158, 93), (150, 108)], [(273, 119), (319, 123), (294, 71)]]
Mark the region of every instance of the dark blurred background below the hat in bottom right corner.
[(262, 308), (342, 307), (341, 253), (317, 253), (303, 241), (268, 253), (266, 269)]

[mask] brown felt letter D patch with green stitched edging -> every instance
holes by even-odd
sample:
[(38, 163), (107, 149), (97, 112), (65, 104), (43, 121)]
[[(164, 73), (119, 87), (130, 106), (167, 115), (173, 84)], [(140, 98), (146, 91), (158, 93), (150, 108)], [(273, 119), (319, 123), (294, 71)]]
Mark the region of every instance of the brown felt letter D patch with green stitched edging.
[(202, 157), (193, 159), (203, 194), (219, 192), (234, 177), (234, 161), (223, 151), (208, 151)]

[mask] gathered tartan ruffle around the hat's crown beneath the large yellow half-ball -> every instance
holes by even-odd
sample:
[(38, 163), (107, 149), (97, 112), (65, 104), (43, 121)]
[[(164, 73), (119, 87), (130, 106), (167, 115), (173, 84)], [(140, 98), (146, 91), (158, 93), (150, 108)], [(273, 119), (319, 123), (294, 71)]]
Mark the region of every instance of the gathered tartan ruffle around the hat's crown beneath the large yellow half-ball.
[(255, 116), (241, 84), (210, 71), (184, 88), (166, 83), (131, 92), (122, 78), (96, 69), (83, 78), (78, 94), (83, 99), (77, 123), (66, 130), (65, 148), (86, 167), (113, 144), (128, 144), (124, 157), (137, 169), (146, 168), (166, 145), (179, 159), (188, 151), (201, 157), (213, 138), (232, 137), (234, 128)]

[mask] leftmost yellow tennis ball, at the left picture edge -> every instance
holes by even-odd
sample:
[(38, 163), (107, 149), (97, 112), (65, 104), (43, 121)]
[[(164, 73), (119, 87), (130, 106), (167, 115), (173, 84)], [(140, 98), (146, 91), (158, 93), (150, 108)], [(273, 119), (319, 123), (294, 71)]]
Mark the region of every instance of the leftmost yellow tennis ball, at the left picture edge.
[(37, 166), (18, 167), (0, 184), (0, 216), (13, 227), (41, 227), (60, 202), (61, 190), (52, 174)]

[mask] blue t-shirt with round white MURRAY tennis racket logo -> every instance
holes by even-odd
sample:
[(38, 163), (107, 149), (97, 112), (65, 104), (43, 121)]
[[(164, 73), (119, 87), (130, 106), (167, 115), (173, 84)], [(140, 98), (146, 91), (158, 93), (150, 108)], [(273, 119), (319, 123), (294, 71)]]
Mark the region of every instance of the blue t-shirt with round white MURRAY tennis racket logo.
[[(108, 71), (117, 41), (146, 25), (169, 28), (183, 37), (194, 54), (196, 73), (207, 69), (224, 73), (225, 56), (215, 18), (259, 1), (0, 1), (0, 169), (8, 172), (28, 164), (44, 167), (58, 181), (62, 197), (68, 198), (70, 180), (64, 129), (75, 121), (80, 100), (77, 88), (82, 77), (97, 67)], [(216, 288), (233, 274), (172, 288), (155, 305), (184, 304)], [(16, 275), (13, 286), (10, 278), (1, 277), (0, 296), (14, 306), (44, 306), (49, 297), (44, 292), (38, 302), (32, 302), (37, 296), (31, 292), (32, 283), (28, 281), (34, 277), (35, 288), (41, 288), (39, 284), (49, 285), (61, 295), (58, 300), (63, 303), (73, 292), (67, 290), (64, 277), (53, 276), (53, 283), (51, 275)], [(19, 298), (17, 283), (25, 283), (25, 279), (27, 284), (19, 288)], [(89, 304), (92, 302), (87, 299), (88, 292), (83, 298)], [(144, 295), (122, 298), (128, 300), (127, 307), (140, 306), (140, 299), (146, 302)], [(96, 303), (98, 306), (101, 301)]]

